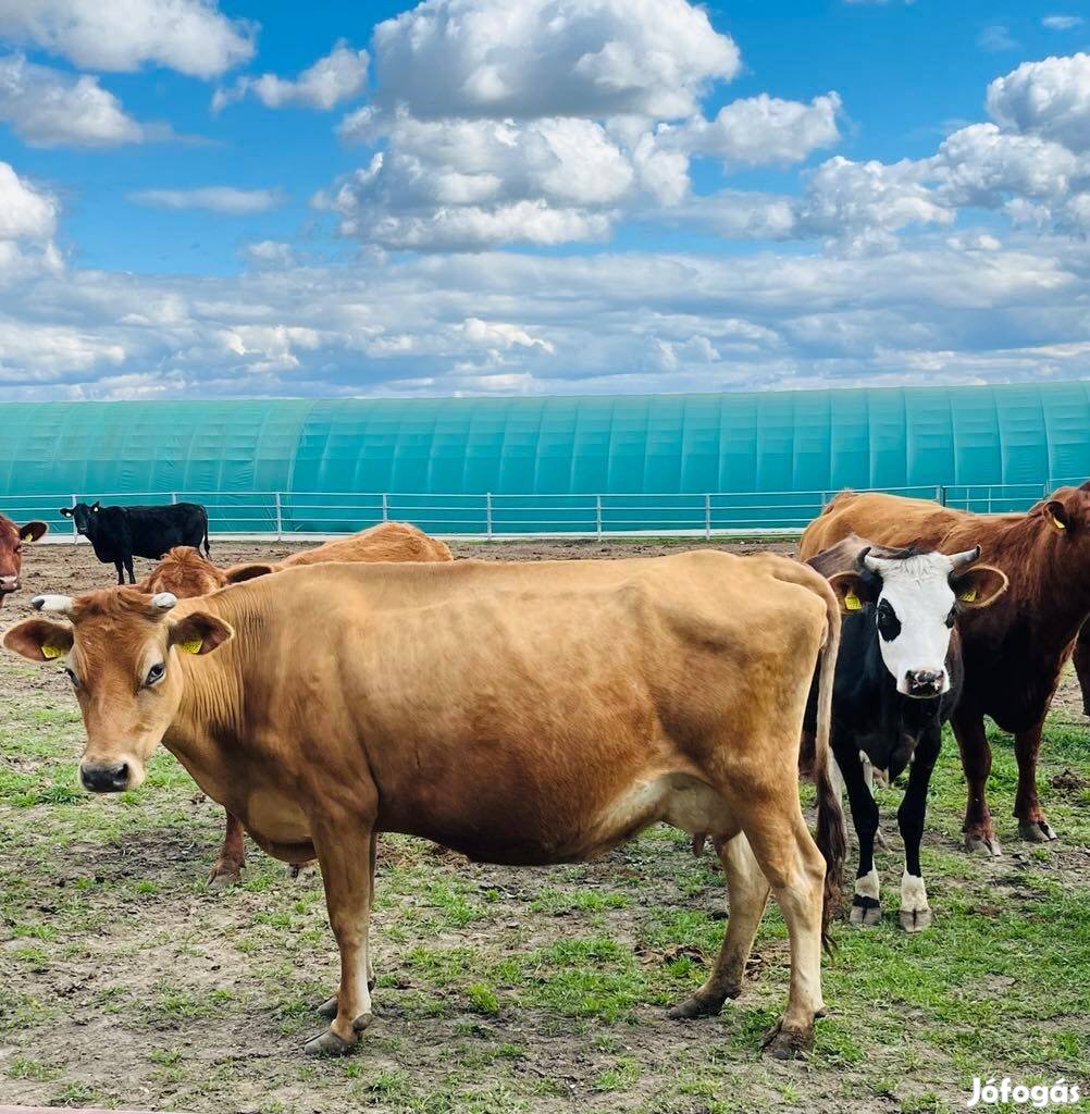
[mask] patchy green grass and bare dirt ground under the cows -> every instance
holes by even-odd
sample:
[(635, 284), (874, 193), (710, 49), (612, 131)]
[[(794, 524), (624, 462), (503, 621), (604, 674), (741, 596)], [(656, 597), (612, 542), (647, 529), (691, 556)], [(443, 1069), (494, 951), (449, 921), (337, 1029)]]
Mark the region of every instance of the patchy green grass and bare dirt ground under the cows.
[[(670, 544), (453, 547), (456, 556), (599, 558)], [(784, 547), (778, 547), (784, 548)], [(219, 561), (287, 546), (228, 545)], [(3, 625), (41, 590), (105, 586), (87, 546), (37, 547)], [(320, 622), (320, 617), (316, 617)], [(608, 647), (603, 647), (608, 652)], [(1061, 839), (1017, 837), (1013, 751), (994, 733), (991, 799), (1005, 854), (961, 848), (964, 779), (949, 735), (932, 781), (923, 866), (934, 927), (886, 911), (839, 924), (824, 967), (829, 1016), (815, 1053), (756, 1053), (786, 997), (770, 906), (750, 981), (718, 1018), (671, 1022), (723, 932), (710, 851), (655, 828), (589, 864), (504, 869), (403, 837), (380, 846), (373, 925), (376, 1022), (363, 1049), (312, 1061), (302, 1038), (335, 981), (318, 877), (292, 879), (251, 847), (239, 886), (203, 866), (220, 810), (160, 751), (119, 798), (78, 788), (81, 724), (68, 682), (0, 658), (0, 1102), (194, 1112), (939, 1112), (973, 1076), (1090, 1075), (1090, 730), (1069, 674), (1041, 753)], [(806, 791), (811, 797), (812, 792)], [(900, 885), (896, 789), (880, 789)]]

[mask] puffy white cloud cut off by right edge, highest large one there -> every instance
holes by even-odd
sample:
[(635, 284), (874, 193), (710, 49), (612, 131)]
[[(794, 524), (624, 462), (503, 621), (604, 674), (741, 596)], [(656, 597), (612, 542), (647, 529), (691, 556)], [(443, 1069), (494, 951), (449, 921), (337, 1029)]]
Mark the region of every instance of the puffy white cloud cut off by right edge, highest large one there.
[(988, 111), (1011, 131), (1090, 150), (1090, 55), (1023, 62), (988, 87)]

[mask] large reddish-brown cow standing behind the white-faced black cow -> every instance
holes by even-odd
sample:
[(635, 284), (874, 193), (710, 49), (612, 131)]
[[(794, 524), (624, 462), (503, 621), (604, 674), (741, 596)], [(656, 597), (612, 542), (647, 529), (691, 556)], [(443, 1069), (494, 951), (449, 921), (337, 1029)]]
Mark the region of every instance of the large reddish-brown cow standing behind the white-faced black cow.
[(1054, 840), (1038, 800), (1037, 759), (1052, 694), (1090, 613), (1090, 483), (1060, 488), (1023, 515), (974, 515), (924, 499), (845, 491), (811, 522), (799, 556), (813, 557), (853, 532), (943, 553), (979, 544), (983, 558), (1009, 577), (1009, 590), (993, 606), (959, 624), (965, 687), (952, 726), (969, 783), (965, 844), (1001, 853), (984, 799), (992, 765), (985, 715), (1014, 735), (1019, 833)]

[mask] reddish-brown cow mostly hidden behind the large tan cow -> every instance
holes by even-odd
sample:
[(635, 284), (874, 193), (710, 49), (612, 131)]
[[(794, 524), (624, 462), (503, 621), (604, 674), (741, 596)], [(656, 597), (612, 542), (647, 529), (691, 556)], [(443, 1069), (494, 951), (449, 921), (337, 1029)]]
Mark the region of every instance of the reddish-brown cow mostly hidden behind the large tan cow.
[[(249, 563), (220, 569), (192, 546), (175, 546), (150, 573), (136, 585), (137, 590), (149, 596), (169, 592), (178, 599), (206, 596), (229, 584), (242, 584), (258, 576), (275, 573), (291, 565), (317, 565), (325, 561), (426, 561), (453, 560), (451, 551), (435, 538), (429, 537), (406, 522), (382, 522), (361, 530), (350, 538), (338, 538), (304, 549), (281, 561)], [(213, 886), (237, 882), (246, 864), (244, 829), (237, 817), (227, 813), (224, 843), (212, 866), (208, 881)]]

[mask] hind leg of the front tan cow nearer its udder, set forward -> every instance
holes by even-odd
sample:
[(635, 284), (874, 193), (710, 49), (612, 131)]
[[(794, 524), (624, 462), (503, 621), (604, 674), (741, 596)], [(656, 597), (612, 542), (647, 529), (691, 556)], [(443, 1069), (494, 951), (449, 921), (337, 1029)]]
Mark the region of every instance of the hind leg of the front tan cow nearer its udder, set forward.
[(735, 836), (718, 847), (719, 861), (727, 876), (730, 919), (719, 948), (715, 968), (696, 994), (678, 1003), (669, 1017), (706, 1017), (718, 1014), (727, 998), (737, 998), (746, 973), (746, 961), (768, 901), (768, 880), (746, 841)]

